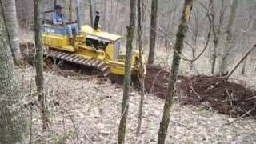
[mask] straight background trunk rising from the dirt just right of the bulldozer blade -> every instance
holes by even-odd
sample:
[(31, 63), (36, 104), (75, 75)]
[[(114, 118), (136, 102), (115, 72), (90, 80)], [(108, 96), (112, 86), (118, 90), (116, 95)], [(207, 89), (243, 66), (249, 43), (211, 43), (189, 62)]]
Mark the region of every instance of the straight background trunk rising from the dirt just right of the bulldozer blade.
[(158, 0), (152, 0), (151, 5), (151, 26), (150, 26), (150, 52), (148, 63), (154, 63), (154, 47), (157, 35)]

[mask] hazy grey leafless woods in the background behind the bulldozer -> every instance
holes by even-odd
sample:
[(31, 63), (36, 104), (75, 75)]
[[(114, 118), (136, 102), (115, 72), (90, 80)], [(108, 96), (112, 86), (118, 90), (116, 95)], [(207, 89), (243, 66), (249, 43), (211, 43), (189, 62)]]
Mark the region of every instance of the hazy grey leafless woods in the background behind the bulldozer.
[[(33, 1), (32, 0), (18, 0), (16, 1), (18, 11), (18, 22), (23, 28), (33, 27)], [(158, 25), (157, 25), (157, 38), (155, 50), (155, 61), (157, 64), (170, 68), (172, 58), (172, 46), (170, 40), (174, 43), (175, 34), (178, 29), (179, 18), (181, 17), (183, 1), (180, 0), (159, 0), (158, 2)], [(230, 17), (232, 1), (217, 0), (214, 1), (214, 21), (215, 28), (218, 33), (218, 49), (217, 49), (217, 62), (215, 66), (215, 73), (218, 71), (218, 64), (222, 50), (225, 46), (225, 33), (228, 26)], [(59, 0), (58, 4), (63, 6), (66, 18), (68, 18), (69, 0)], [(42, 2), (42, 11), (51, 10), (54, 7), (54, 1), (48, 0)], [(189, 22), (188, 36), (186, 37), (184, 55), (186, 58), (193, 59), (202, 52), (206, 45), (207, 34), (209, 32), (210, 22), (207, 18), (207, 9), (209, 1), (197, 0), (194, 2), (193, 12)], [(82, 24), (90, 24), (90, 1), (81, 0), (82, 11)], [(230, 57), (228, 58), (230, 70), (238, 59), (250, 49), (256, 41), (256, 1), (255, 0), (239, 0), (237, 15), (234, 19), (232, 30), (232, 41)], [(109, 31), (114, 34), (122, 35), (122, 50), (125, 50), (126, 41), (126, 26), (129, 23), (129, 1), (125, 0), (93, 0), (92, 1), (93, 14), (97, 10), (101, 14), (100, 25), (103, 30)], [(73, 2), (73, 18), (75, 19), (75, 2)], [(150, 41), (150, 12), (151, 1), (142, 1), (142, 25), (143, 25), (143, 49), (147, 55)], [(43, 18), (50, 18), (50, 14), (43, 14)], [(138, 34), (135, 34), (138, 39)], [(168, 38), (168, 39), (166, 39)], [(138, 45), (138, 42), (136, 42)], [(138, 49), (138, 46), (135, 48)], [(194, 62), (191, 66), (190, 62), (182, 62), (181, 72), (188, 70), (196, 71), (197, 73), (210, 74), (211, 59), (214, 50), (214, 34), (210, 34), (210, 42), (207, 46), (206, 52), (198, 61)], [(246, 74), (254, 74), (256, 69), (256, 52), (253, 51), (250, 57), (246, 59), (241, 69), (236, 73), (241, 74), (246, 71)], [(253, 83), (251, 78), (248, 78), (249, 83)], [(253, 79), (255, 81), (255, 79)]]

